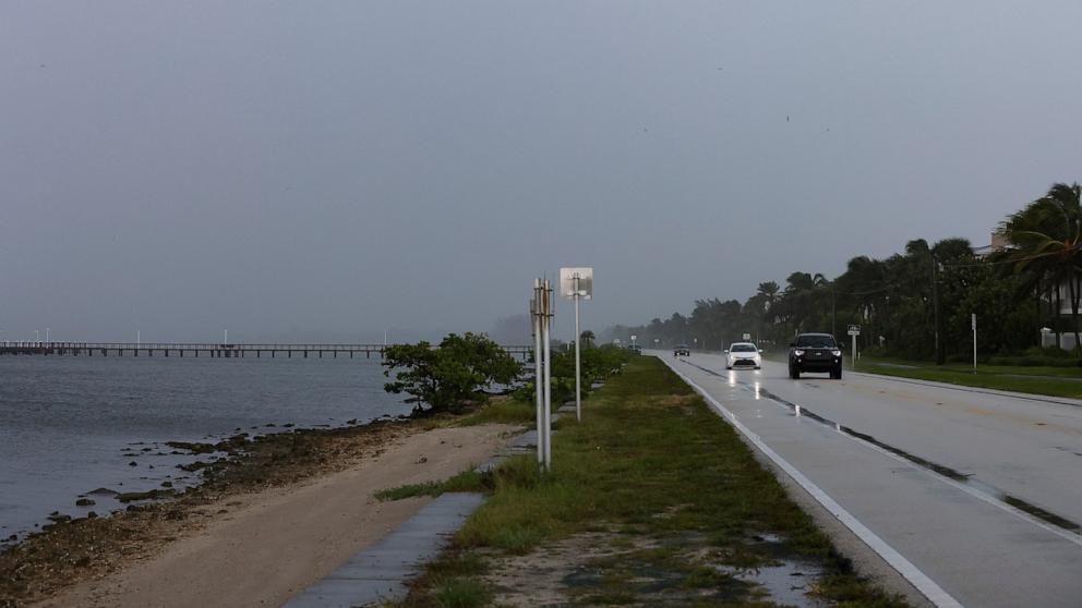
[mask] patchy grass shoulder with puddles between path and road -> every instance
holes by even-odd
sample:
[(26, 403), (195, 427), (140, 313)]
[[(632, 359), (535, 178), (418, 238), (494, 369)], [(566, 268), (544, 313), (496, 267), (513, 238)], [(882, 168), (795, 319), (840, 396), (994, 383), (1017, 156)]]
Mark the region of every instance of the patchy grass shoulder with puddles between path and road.
[(473, 478), (490, 500), (393, 606), (905, 606), (657, 358), (557, 430), (549, 475), (528, 455)]

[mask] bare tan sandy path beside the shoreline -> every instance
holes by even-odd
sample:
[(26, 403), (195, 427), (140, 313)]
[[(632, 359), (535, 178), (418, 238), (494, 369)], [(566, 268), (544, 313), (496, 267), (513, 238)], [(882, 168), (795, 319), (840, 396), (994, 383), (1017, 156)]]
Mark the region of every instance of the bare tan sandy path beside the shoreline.
[(223, 497), (211, 508), (225, 512), (203, 530), (35, 606), (280, 606), (431, 500), (377, 502), (374, 491), (450, 477), (497, 453), (513, 430), (506, 425), (434, 429), (397, 440), (347, 471)]

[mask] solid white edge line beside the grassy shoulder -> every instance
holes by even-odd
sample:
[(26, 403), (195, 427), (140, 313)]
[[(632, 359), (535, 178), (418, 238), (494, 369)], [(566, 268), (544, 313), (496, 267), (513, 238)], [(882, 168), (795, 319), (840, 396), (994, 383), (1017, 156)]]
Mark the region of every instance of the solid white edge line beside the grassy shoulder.
[(713, 408), (718, 411), (718, 413), (724, 416), (730, 422), (730, 424), (732, 424), (733, 427), (736, 428), (736, 430), (740, 430), (741, 434), (744, 435), (744, 437), (747, 437), (748, 441), (752, 441), (752, 443), (756, 448), (758, 448), (760, 452), (762, 452), (767, 458), (773, 461), (774, 464), (780, 466), (781, 470), (784, 471), (790, 477), (792, 477), (794, 482), (800, 484), (800, 486), (804, 488), (804, 490), (807, 491), (809, 495), (812, 495), (812, 497), (815, 498), (816, 501), (819, 502), (819, 504), (822, 504), (822, 507), (827, 509), (827, 511), (829, 511), (833, 516), (838, 518), (838, 521), (842, 522), (842, 524), (844, 524), (845, 527), (850, 528), (853, 532), (853, 534), (856, 534), (857, 537), (859, 537), (865, 545), (871, 548), (871, 550), (879, 554), (879, 557), (886, 560), (887, 563), (889, 563), (891, 568), (893, 568), (902, 576), (904, 576), (906, 581), (912, 583), (913, 586), (917, 588), (917, 591), (919, 591), (922, 594), (924, 594), (925, 597), (928, 598), (928, 600), (930, 600), (939, 608), (962, 607), (961, 603), (959, 603), (957, 599), (951, 597), (949, 593), (943, 591), (942, 587), (936, 584), (935, 581), (928, 577), (928, 575), (922, 572), (917, 567), (913, 566), (913, 563), (910, 562), (910, 560), (905, 559), (902, 556), (902, 554), (899, 554), (893, 547), (888, 545), (882, 538), (879, 538), (879, 536), (876, 535), (876, 533), (868, 530), (868, 527), (863, 523), (861, 523), (859, 520), (857, 520), (852, 514), (850, 514), (849, 511), (843, 509), (842, 506), (835, 502), (833, 498), (830, 498), (830, 496), (827, 495), (827, 493), (825, 493), (819, 486), (812, 483), (812, 479), (805, 477), (804, 474), (797, 471), (795, 466), (790, 464), (785, 459), (781, 458), (778, 454), (778, 452), (770, 449), (770, 447), (767, 446), (762, 441), (762, 439), (759, 438), (758, 435), (752, 433), (749, 428), (744, 426), (744, 424), (741, 423), (741, 421), (737, 419), (732, 412), (730, 412), (728, 409), (725, 409), (724, 405), (719, 403), (718, 400), (711, 397), (710, 393), (708, 393), (702, 387), (695, 384), (694, 380), (692, 380), (686, 375), (684, 375), (680, 369), (676, 369), (676, 367), (671, 365), (669, 361), (665, 360), (665, 357), (658, 357), (658, 358), (664, 362), (664, 364), (669, 366), (669, 368), (672, 369), (673, 373), (680, 376), (685, 382), (687, 382), (688, 386), (690, 386), (693, 389), (695, 389), (696, 392), (702, 396), (702, 398), (706, 399), (708, 403), (713, 405)]

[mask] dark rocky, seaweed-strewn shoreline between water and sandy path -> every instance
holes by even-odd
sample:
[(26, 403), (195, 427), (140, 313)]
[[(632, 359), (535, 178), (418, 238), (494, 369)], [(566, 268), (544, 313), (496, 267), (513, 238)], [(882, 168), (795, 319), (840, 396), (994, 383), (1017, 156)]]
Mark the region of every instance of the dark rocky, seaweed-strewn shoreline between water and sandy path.
[[(356, 423), (357, 421), (349, 421)], [(125, 504), (109, 516), (55, 512), (40, 532), (29, 534), (0, 552), (0, 608), (15, 608), (46, 598), (79, 582), (103, 579), (229, 511), (229, 495), (294, 484), (341, 471), (381, 453), (396, 440), (424, 430), (423, 422), (377, 419), (338, 428), (291, 429), (251, 437), (237, 434), (217, 442), (167, 446), (177, 453), (214, 455), (178, 465), (199, 475), (187, 488), (172, 482), (146, 491), (119, 493), (98, 488), (81, 495), (80, 507), (97, 500)]]

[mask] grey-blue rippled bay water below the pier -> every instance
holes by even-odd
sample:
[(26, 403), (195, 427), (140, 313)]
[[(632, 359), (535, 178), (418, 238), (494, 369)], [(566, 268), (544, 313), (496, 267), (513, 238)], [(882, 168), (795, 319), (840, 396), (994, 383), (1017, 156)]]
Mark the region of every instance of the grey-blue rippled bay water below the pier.
[(100, 496), (75, 507), (99, 487), (194, 482), (176, 465), (196, 457), (165, 441), (408, 413), (384, 381), (378, 358), (0, 356), (0, 540), (52, 511), (119, 508)]

